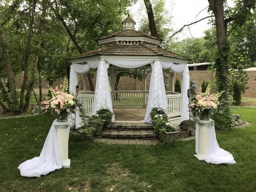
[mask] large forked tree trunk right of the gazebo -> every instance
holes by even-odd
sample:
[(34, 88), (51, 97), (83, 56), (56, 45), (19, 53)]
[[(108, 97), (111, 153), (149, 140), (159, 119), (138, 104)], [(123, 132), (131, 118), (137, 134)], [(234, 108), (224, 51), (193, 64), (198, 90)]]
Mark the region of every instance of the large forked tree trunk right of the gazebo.
[[(217, 47), (218, 47), (218, 56), (215, 60), (216, 68), (216, 88), (218, 91), (225, 91), (221, 95), (220, 101), (222, 107), (224, 107), (225, 112), (229, 114), (228, 108), (228, 50), (229, 45), (227, 42), (227, 25), (228, 23), (234, 21), (235, 19), (244, 19), (245, 15), (250, 12), (251, 8), (255, 6), (255, 2), (252, 0), (240, 1), (235, 12), (227, 17), (227, 11), (224, 11), (224, 0), (208, 0), (209, 8), (212, 10), (215, 16), (215, 25), (216, 25), (216, 38), (217, 38)], [(230, 10), (228, 10), (230, 11)]]

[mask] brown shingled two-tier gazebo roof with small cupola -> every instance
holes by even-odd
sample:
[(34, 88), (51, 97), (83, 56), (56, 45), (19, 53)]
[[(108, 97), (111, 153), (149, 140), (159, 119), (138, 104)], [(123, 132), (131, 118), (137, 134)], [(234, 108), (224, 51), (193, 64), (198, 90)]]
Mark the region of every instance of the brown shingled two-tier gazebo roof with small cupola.
[(71, 62), (83, 62), (92, 59), (161, 59), (173, 62), (188, 61), (160, 47), (161, 39), (135, 31), (135, 22), (128, 17), (123, 21), (123, 30), (97, 39), (100, 48), (72, 57)]

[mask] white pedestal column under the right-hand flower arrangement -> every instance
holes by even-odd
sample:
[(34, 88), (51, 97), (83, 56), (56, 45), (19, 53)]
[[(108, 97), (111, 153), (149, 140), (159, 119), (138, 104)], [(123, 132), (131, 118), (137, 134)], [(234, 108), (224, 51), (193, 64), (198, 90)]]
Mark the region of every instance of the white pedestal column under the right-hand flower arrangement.
[(209, 130), (212, 127), (214, 121), (211, 118), (207, 121), (199, 120), (199, 118), (196, 118), (196, 123), (199, 124), (199, 134), (198, 138), (195, 138), (198, 140), (196, 141), (198, 142), (198, 145), (196, 146), (197, 149), (195, 149), (195, 151), (198, 152), (195, 156), (199, 160), (204, 160), (209, 148)]

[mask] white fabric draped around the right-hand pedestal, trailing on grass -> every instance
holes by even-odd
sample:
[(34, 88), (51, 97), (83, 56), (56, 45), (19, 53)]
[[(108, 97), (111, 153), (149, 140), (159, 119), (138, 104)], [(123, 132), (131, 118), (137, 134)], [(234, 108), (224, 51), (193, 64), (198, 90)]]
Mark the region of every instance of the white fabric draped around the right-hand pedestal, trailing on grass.
[[(195, 128), (195, 152), (198, 154), (199, 145), (199, 123), (196, 122)], [(235, 164), (234, 157), (228, 151), (219, 147), (218, 141), (216, 140), (216, 133), (214, 123), (209, 130), (208, 138), (208, 152), (204, 160), (211, 164)]]

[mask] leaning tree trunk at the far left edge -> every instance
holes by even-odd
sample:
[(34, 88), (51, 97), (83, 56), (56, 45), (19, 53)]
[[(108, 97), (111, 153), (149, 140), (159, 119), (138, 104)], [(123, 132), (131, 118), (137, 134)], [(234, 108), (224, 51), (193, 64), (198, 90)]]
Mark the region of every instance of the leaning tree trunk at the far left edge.
[[(18, 111), (18, 100), (17, 100), (17, 94), (16, 94), (14, 73), (13, 73), (12, 68), (11, 68), (9, 52), (8, 52), (7, 45), (5, 43), (4, 31), (2, 31), (1, 29), (0, 29), (0, 44), (1, 44), (1, 47), (2, 47), (4, 64), (5, 64), (5, 67), (6, 67), (6, 74), (7, 74), (7, 78), (8, 78), (8, 87), (9, 87), (9, 92), (10, 92), (10, 95), (11, 95), (11, 99), (6, 100), (6, 101), (10, 102), (9, 103), (10, 104), (9, 109), (12, 112), (12, 114), (16, 115), (16, 114), (18, 114), (19, 111)], [(6, 97), (9, 97), (9, 96), (6, 95)]]

